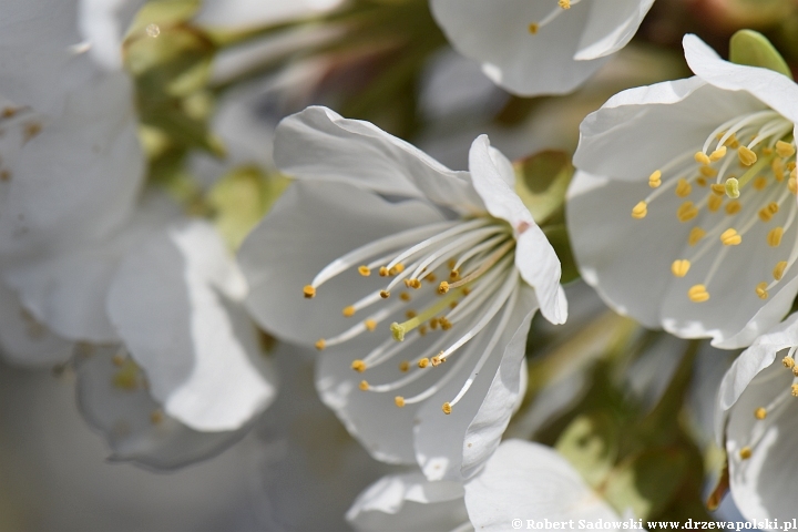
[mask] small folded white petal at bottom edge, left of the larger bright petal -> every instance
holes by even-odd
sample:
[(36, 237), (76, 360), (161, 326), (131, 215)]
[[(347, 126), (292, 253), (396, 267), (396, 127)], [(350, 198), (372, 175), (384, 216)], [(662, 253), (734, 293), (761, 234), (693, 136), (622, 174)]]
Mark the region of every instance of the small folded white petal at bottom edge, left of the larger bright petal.
[(382, 477), (358, 495), (347, 521), (358, 531), (449, 531), (468, 521), (459, 482), (423, 474)]

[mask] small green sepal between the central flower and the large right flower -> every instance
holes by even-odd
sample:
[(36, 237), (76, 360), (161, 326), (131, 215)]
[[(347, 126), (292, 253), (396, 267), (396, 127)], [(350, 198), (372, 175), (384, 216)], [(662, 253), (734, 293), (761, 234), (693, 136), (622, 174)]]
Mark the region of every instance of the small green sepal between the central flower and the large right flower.
[(515, 162), (514, 167), (515, 192), (542, 224), (565, 202), (574, 171), (571, 158), (565, 152), (546, 150)]

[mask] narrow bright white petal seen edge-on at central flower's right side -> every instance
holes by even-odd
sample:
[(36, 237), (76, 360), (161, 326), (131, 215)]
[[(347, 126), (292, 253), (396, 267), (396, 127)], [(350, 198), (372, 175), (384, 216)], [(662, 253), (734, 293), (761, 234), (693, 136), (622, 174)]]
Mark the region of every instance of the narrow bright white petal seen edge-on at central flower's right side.
[(490, 147), (487, 135), (474, 140), (469, 152), (473, 185), (488, 212), (507, 221), (516, 238), (515, 266), (534, 289), (541, 313), (553, 324), (567, 318), (567, 303), (560, 287), (560, 259), (529, 209), (511, 188), (514, 183), (510, 162)]

